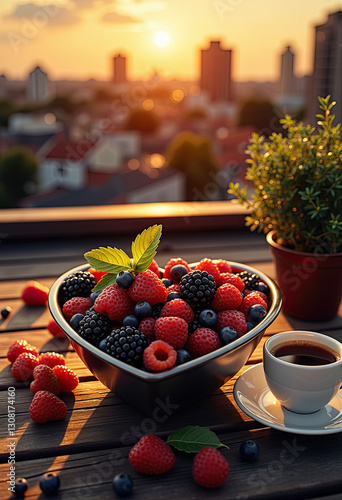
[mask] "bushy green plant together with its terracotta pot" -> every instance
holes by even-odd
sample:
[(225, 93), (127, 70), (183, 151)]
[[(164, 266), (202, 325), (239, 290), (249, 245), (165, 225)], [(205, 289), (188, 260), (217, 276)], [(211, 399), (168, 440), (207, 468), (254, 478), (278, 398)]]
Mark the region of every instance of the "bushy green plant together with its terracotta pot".
[(285, 313), (326, 320), (342, 294), (342, 143), (330, 96), (318, 98), (317, 129), (286, 115), (284, 134), (253, 134), (247, 186), (229, 192), (251, 212), (250, 229), (267, 233)]

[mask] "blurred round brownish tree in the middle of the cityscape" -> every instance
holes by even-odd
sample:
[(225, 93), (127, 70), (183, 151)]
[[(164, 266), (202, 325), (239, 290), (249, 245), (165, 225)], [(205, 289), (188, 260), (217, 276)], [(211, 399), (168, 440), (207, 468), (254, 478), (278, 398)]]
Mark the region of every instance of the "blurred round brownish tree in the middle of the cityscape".
[(211, 199), (210, 186), (219, 166), (208, 137), (191, 132), (178, 134), (166, 151), (166, 160), (169, 167), (185, 174), (188, 201)]

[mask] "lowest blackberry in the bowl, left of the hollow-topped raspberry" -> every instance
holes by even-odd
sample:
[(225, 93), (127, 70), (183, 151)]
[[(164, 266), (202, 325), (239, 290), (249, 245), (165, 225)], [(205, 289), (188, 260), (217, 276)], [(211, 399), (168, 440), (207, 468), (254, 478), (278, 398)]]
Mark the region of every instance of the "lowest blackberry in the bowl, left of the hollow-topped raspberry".
[(142, 366), (143, 352), (148, 346), (144, 333), (134, 326), (122, 326), (107, 337), (106, 353), (131, 366)]

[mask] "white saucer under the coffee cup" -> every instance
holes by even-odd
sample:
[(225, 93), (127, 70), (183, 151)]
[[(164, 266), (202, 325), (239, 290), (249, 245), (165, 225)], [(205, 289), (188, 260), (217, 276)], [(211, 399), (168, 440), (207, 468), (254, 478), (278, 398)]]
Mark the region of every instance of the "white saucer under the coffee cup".
[(316, 413), (294, 413), (282, 407), (266, 383), (262, 363), (246, 370), (235, 382), (234, 398), (243, 412), (264, 425), (294, 434), (333, 434), (342, 431), (342, 390)]

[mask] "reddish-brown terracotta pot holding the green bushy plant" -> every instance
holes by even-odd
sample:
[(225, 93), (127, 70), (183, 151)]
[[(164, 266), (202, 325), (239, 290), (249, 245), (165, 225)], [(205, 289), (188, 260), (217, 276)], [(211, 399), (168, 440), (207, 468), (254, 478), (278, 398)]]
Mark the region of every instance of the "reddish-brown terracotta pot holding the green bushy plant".
[(298, 319), (324, 321), (337, 314), (342, 297), (342, 253), (316, 254), (278, 245), (267, 234), (274, 257), (283, 311)]

